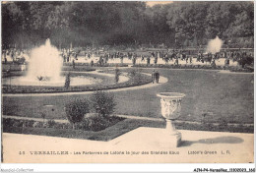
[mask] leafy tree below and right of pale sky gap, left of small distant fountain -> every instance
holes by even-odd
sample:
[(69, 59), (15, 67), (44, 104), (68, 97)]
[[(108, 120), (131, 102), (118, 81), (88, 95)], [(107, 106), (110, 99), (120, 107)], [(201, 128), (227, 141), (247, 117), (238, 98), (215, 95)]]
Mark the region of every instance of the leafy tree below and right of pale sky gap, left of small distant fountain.
[(195, 37), (201, 40), (205, 36), (205, 16), (208, 4), (205, 2), (173, 3), (168, 9), (167, 24), (175, 30), (176, 44), (184, 44), (186, 39)]

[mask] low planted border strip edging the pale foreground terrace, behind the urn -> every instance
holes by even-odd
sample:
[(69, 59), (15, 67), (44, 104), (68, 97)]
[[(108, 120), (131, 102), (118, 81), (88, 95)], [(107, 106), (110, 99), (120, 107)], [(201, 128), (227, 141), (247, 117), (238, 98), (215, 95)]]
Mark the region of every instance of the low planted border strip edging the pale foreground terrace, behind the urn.
[[(11, 119), (15, 121), (14, 119)], [(5, 119), (3, 120), (6, 121)], [(7, 120), (10, 121), (10, 120)], [(218, 131), (218, 132), (231, 132), (231, 133), (253, 133), (254, 127), (250, 126), (226, 126), (226, 125), (213, 125), (213, 124), (191, 124), (191, 123), (175, 123), (177, 130), (194, 130), (194, 131)], [(42, 124), (39, 123), (39, 124)], [(48, 123), (49, 124), (49, 123)], [(17, 126), (18, 125), (18, 126)], [(135, 120), (135, 119), (124, 119), (116, 124), (112, 124), (108, 128), (101, 131), (84, 131), (84, 130), (73, 130), (71, 126), (62, 126), (61, 129), (52, 128), (52, 125), (44, 126), (36, 125), (23, 126), (22, 123), (10, 126), (10, 124), (3, 124), (4, 133), (15, 133), (15, 134), (32, 134), (39, 136), (50, 136), (50, 137), (62, 137), (71, 139), (85, 139), (94, 141), (110, 141), (118, 136), (128, 133), (139, 127), (152, 127), (152, 128), (165, 128), (165, 122), (150, 121), (150, 120)], [(60, 126), (61, 127), (61, 126)], [(70, 129), (71, 128), (71, 129)]]

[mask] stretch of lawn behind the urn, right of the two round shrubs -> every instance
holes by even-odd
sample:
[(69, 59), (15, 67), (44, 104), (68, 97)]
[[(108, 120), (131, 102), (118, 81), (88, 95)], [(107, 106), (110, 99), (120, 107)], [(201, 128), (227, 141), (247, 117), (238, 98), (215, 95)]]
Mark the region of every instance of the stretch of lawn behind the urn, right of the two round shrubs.
[(156, 94), (171, 91), (186, 94), (180, 120), (253, 123), (253, 75), (200, 70), (159, 71), (168, 78), (167, 84), (116, 93), (119, 105), (116, 113), (160, 117), (160, 98)]

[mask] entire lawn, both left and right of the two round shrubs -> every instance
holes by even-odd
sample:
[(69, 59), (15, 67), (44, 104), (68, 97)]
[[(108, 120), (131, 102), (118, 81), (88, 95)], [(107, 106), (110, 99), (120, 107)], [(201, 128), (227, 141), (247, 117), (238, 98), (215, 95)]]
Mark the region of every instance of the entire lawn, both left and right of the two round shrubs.
[[(128, 69), (129, 70), (129, 69)], [(151, 73), (152, 69), (143, 69)], [(221, 74), (218, 71), (159, 69), (168, 83), (157, 87), (114, 92), (116, 114), (160, 118), (161, 91), (182, 92), (180, 120), (197, 122), (253, 123), (252, 74)], [(45, 105), (54, 105), (46, 118), (65, 119), (64, 106), (90, 95), (3, 97), (4, 115), (40, 117)], [(49, 117), (51, 116), (51, 117)]]

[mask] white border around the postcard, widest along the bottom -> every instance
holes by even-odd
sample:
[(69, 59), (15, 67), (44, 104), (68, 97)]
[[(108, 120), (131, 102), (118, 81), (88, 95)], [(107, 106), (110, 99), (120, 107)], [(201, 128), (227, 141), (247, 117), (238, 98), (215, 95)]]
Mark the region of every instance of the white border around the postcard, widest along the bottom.
[[(15, 0), (19, 1), (19, 0)], [(32, 0), (24, 0), (24, 1), (32, 1)], [(59, 1), (59, 0), (55, 0)], [(76, 1), (82, 1), (82, 0), (76, 0)], [(88, 1), (94, 1), (94, 0), (88, 0)], [(101, 0), (101, 1), (107, 1), (107, 0)], [(134, 1), (134, 0), (130, 0)], [(143, 0), (145, 1), (145, 0)], [(149, 0), (154, 1), (154, 0)], [(160, 0), (160, 1), (166, 1), (166, 0)], [(184, 0), (180, 0), (184, 1)], [(191, 1), (191, 0), (190, 0)], [(204, 0), (197, 0), (197, 1), (204, 1)], [(209, 0), (207, 0), (209, 1)], [(225, 0), (226, 1), (226, 0)], [(227, 0), (230, 1), (230, 0)], [(240, 1), (246, 1), (246, 0), (240, 0)], [(3, 0), (1, 0), (2, 4)], [(256, 8), (254, 6), (254, 12)], [(0, 9), (1, 12), (1, 9)], [(254, 13), (255, 14), (255, 13)], [(1, 25), (2, 25), (2, 19)], [(2, 33), (2, 28), (0, 28), (0, 31)], [(254, 32), (255, 32), (255, 18), (254, 18)], [(254, 39), (254, 45), (256, 41)], [(0, 47), (0, 51), (2, 52), (2, 46)], [(254, 49), (254, 55), (256, 54), (256, 50)], [(254, 64), (256, 63), (256, 60), (254, 58)], [(256, 67), (256, 66), (255, 66)], [(1, 66), (0, 66), (0, 73), (1, 73)], [(254, 76), (254, 82), (256, 78)], [(1, 84), (1, 81), (0, 81)], [(255, 90), (255, 86), (254, 86)], [(2, 101), (2, 97), (0, 98)], [(254, 97), (254, 107), (255, 107), (255, 97)], [(2, 112), (2, 107), (1, 107)], [(255, 111), (254, 111), (254, 122), (255, 122)], [(1, 127), (1, 124), (0, 124)], [(1, 127), (2, 128), (2, 127)], [(0, 132), (2, 129), (0, 129)], [(255, 127), (254, 127), (254, 134), (255, 134)], [(2, 136), (0, 136), (0, 140), (2, 140)], [(255, 141), (255, 138), (254, 138)], [(255, 143), (254, 143), (254, 150), (255, 150)], [(2, 151), (2, 148), (0, 148), (0, 151)], [(1, 155), (0, 155), (1, 157)], [(228, 169), (228, 168), (255, 168), (255, 156), (254, 156), (254, 163), (232, 163), (232, 164), (224, 164), (224, 163), (211, 163), (211, 164), (172, 164), (172, 163), (164, 163), (164, 164), (88, 164), (88, 163), (82, 163), (82, 164), (10, 164), (10, 163), (0, 163), (0, 169), (8, 169), (9, 172), (28, 172), (25, 171), (26, 169), (33, 169), (32, 172), (193, 172), (195, 168), (214, 168), (214, 169)], [(24, 170), (23, 170), (24, 169)], [(1, 170), (0, 170), (1, 172)]]

